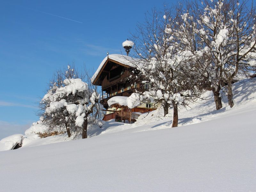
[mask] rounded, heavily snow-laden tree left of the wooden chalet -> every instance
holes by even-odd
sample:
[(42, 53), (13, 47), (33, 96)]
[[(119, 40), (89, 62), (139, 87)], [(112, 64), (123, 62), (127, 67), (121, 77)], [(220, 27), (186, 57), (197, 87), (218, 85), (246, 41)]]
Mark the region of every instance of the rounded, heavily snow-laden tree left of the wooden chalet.
[(94, 112), (100, 107), (100, 95), (90, 83), (80, 78), (63, 77), (77, 75), (69, 66), (65, 73), (57, 73), (56, 82), (52, 82), (50, 90), (41, 101), (43, 113), (40, 120), (49, 127), (49, 132), (66, 131), (68, 137), (82, 134), (83, 139), (87, 138), (88, 122), (98, 122)]

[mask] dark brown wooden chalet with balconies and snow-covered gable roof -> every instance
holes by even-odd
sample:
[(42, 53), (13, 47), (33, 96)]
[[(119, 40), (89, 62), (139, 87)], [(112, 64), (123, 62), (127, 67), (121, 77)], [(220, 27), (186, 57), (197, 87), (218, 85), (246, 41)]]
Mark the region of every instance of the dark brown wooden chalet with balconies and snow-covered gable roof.
[(110, 98), (116, 96), (129, 97), (135, 91), (135, 88), (140, 89), (139, 83), (131, 84), (129, 81), (132, 68), (134, 68), (131, 60), (131, 57), (125, 55), (108, 55), (92, 76), (92, 84), (99, 85), (102, 89), (102, 100), (100, 102), (107, 111), (103, 118), (105, 121), (115, 119), (116, 121), (128, 120), (131, 123), (137, 120), (140, 113), (155, 110), (155, 108), (151, 108), (152, 105), (150, 104), (133, 109), (118, 103), (108, 106)]

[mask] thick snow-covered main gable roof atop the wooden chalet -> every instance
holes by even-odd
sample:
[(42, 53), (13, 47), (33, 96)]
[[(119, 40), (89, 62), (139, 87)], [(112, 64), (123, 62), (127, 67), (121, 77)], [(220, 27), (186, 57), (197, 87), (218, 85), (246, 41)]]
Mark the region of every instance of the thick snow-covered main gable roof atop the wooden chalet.
[(123, 65), (127, 65), (129, 67), (136, 67), (134, 65), (134, 61), (135, 59), (130, 57), (130, 56), (126, 56), (126, 55), (120, 55), (120, 54), (111, 54), (108, 55), (107, 57), (105, 57), (102, 62), (100, 63), (100, 66), (98, 67), (98, 69), (96, 70), (96, 72), (94, 73), (94, 75), (92, 76), (91, 80), (92, 83), (97, 79), (97, 76), (100, 74), (101, 69), (104, 67), (106, 61), (110, 59), (110, 60), (114, 60), (118, 63), (121, 63)]

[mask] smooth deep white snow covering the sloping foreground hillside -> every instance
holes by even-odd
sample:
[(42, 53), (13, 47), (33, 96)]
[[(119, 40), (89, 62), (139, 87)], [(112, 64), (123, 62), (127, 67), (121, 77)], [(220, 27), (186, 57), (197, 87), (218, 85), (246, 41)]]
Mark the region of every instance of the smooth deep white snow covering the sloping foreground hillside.
[(225, 99), (219, 111), (212, 99), (181, 109), (187, 126), (170, 128), (155, 111), (134, 124), (108, 122), (85, 140), (42, 145), (58, 142), (48, 137), (2, 151), (0, 191), (256, 191), (256, 86), (244, 83), (232, 109)]

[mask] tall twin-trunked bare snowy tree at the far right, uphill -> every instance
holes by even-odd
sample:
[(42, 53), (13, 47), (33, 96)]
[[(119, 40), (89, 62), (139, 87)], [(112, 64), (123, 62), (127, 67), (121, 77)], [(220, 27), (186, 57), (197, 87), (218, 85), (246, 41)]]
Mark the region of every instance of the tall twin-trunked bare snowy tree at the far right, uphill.
[(205, 0), (190, 2), (181, 10), (177, 21), (177, 32), (185, 39), (181, 46), (193, 53), (216, 109), (222, 107), (220, 90), (225, 85), (233, 107), (233, 80), (255, 71), (255, 7), (248, 8), (245, 1)]

